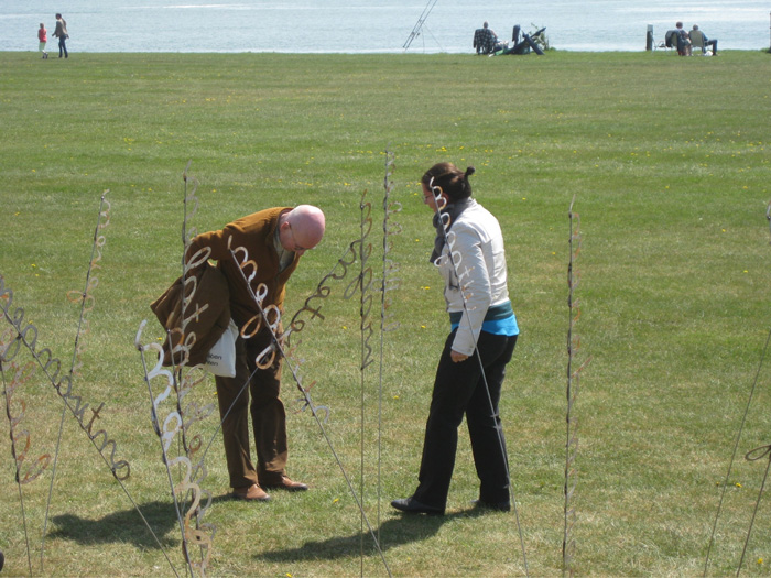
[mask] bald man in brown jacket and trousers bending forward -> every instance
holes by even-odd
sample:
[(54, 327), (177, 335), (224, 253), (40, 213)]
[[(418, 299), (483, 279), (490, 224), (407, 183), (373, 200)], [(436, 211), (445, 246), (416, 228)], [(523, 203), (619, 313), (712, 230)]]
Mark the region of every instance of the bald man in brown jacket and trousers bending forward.
[[(275, 207), (242, 217), (219, 231), (198, 235), (191, 241), (187, 258), (208, 247), (209, 259), (217, 261), (230, 292), (230, 314), (239, 329), (259, 315), (254, 299), (246, 286), (238, 263), (228, 249), (243, 247), (257, 263), (251, 281), (252, 291), (264, 284), (262, 308), (275, 305), (283, 313), (285, 284), (296, 269), (300, 258), (316, 247), (324, 237), (324, 212), (311, 205)], [(238, 254), (239, 259), (243, 259)], [(250, 324), (250, 327), (252, 325)], [(281, 331), (282, 328), (279, 328)], [(307, 490), (286, 475), (286, 414), (279, 397), (281, 389), (281, 356), (271, 367), (257, 369), (256, 358), (270, 346), (270, 329), (262, 327), (254, 336), (236, 340), (236, 377), (217, 375), (217, 400), (222, 418), (225, 458), (234, 498), (268, 501), (265, 489)], [(249, 377), (251, 375), (251, 380)], [(249, 386), (243, 384), (249, 381)], [(241, 392), (241, 390), (243, 391)], [(239, 395), (239, 392), (240, 395)], [(251, 396), (251, 404), (250, 399)], [(257, 467), (249, 450), (249, 414), (251, 412)]]

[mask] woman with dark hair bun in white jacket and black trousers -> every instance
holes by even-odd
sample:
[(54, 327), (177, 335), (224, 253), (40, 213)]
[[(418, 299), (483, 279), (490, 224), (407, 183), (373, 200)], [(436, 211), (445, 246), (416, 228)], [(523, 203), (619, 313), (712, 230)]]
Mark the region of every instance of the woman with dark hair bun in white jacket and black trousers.
[(444, 280), (450, 332), (436, 369), (417, 489), (391, 502), (402, 512), (444, 514), (464, 415), (480, 481), (476, 505), (511, 508), (498, 402), (519, 328), (509, 301), (503, 235), (498, 220), (471, 198), (474, 172), (438, 163), (421, 179), (423, 203), (434, 210), (431, 262)]

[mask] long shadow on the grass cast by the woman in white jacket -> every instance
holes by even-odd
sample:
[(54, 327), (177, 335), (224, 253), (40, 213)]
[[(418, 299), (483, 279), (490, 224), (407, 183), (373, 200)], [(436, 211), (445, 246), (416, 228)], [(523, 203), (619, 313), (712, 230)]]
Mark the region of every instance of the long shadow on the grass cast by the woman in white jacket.
[[(402, 546), (411, 542), (420, 542), (436, 534), (442, 524), (456, 517), (476, 517), (485, 515), (484, 511), (466, 511), (447, 514), (444, 516), (404, 514), (387, 520), (380, 524), (380, 548), (387, 552), (389, 548)], [(378, 536), (378, 528), (373, 528)], [(306, 542), (300, 547), (279, 549), (257, 554), (254, 557), (263, 561), (285, 563), (296, 560), (332, 560), (346, 558), (352, 554), (359, 555), (362, 538), (366, 556), (377, 556), (372, 536), (369, 532), (357, 532), (348, 536), (333, 536), (323, 541)]]

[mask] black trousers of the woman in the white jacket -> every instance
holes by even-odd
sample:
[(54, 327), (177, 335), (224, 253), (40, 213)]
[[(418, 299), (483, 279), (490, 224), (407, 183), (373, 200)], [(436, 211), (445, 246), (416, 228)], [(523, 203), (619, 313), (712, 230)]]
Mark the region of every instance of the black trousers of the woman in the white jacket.
[(498, 402), (517, 336), (481, 331), (477, 352), (459, 363), (454, 363), (449, 357), (454, 339), (455, 331), (447, 337), (436, 369), (417, 477), (420, 483), (413, 497), (426, 505), (445, 508), (455, 468), (458, 426), (465, 415), (480, 481), (479, 499), (490, 503), (507, 502), (509, 468)]

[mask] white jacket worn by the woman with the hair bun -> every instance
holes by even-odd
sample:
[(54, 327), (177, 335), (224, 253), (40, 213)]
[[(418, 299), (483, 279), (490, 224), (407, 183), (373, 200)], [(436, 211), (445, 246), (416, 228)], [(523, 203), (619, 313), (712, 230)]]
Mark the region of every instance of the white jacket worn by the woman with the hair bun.
[(447, 312), (463, 312), (453, 349), (470, 356), (487, 309), (509, 301), (503, 235), (498, 219), (476, 200), (470, 199), (447, 231), (438, 269), (445, 282)]

